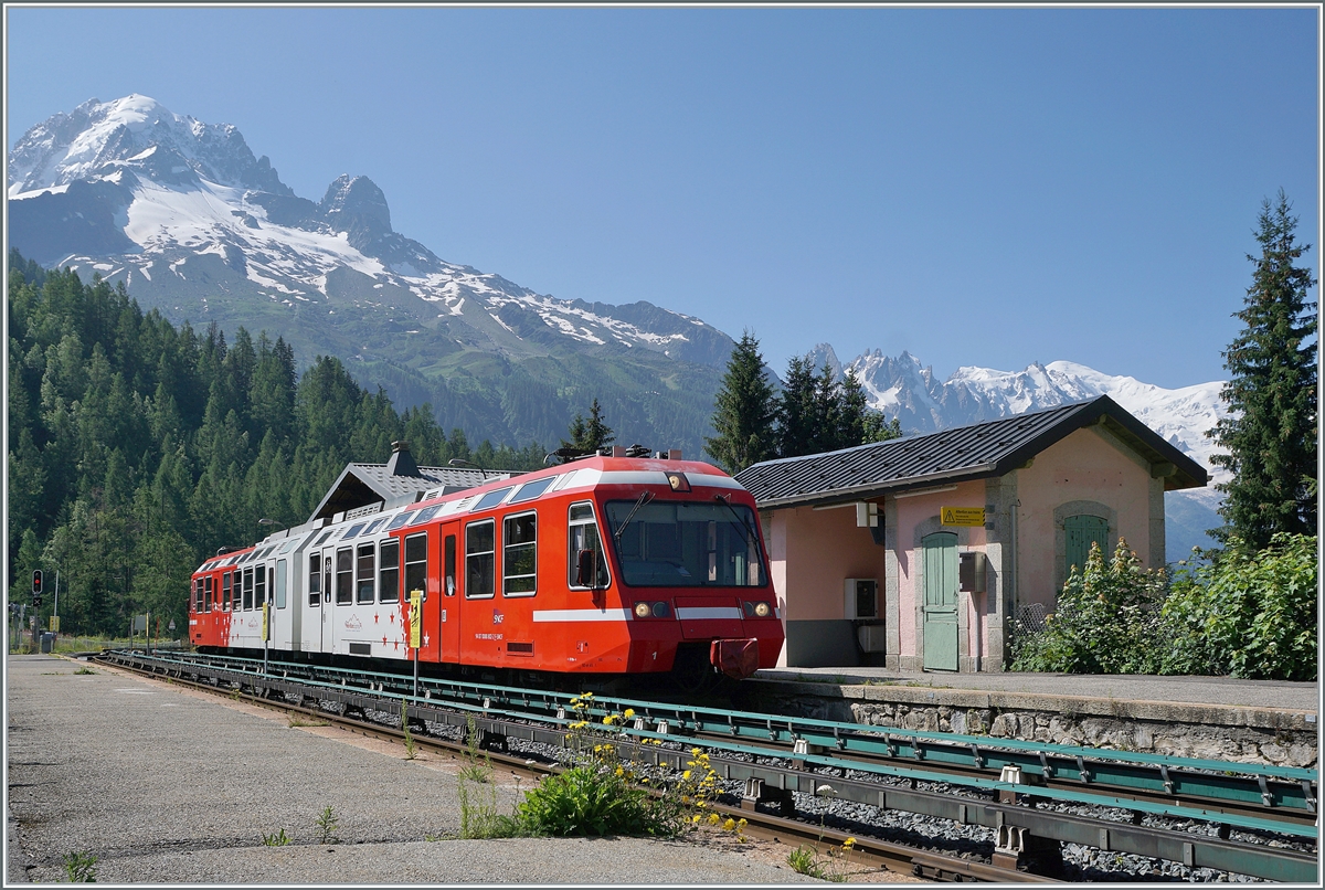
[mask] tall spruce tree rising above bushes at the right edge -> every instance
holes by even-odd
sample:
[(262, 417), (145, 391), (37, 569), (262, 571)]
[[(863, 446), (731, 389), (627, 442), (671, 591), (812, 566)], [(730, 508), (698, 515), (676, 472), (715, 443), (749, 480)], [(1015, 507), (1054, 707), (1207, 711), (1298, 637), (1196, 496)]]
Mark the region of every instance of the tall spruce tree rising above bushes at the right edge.
[(1261, 203), (1259, 257), (1243, 331), (1224, 355), (1230, 380), (1222, 392), (1228, 417), (1206, 434), (1227, 449), (1214, 464), (1232, 479), (1219, 485), (1226, 524), (1219, 540), (1236, 535), (1263, 548), (1276, 532), (1316, 531), (1316, 346), (1318, 309), (1309, 299), (1317, 282), (1295, 265), (1310, 245), (1297, 244), (1297, 217), (1279, 191)]

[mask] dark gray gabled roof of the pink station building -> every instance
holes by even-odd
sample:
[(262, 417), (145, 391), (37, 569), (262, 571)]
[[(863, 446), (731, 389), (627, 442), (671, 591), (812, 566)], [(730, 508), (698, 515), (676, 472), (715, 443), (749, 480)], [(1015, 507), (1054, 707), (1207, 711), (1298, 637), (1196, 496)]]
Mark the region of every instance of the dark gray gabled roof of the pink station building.
[(762, 509), (840, 503), (931, 485), (1003, 475), (1068, 433), (1101, 424), (1150, 461), (1165, 490), (1206, 485), (1206, 469), (1108, 396), (1048, 411), (755, 464), (737, 474)]

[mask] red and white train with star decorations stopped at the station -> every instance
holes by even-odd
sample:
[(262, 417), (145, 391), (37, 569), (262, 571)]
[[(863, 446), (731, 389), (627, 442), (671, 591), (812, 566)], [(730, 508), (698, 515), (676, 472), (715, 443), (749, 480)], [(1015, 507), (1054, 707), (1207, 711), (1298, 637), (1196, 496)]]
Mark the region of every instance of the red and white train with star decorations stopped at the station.
[(672, 674), (697, 687), (776, 664), (784, 634), (754, 498), (714, 466), (591, 456), (431, 494), (208, 559), (191, 641), (556, 685)]

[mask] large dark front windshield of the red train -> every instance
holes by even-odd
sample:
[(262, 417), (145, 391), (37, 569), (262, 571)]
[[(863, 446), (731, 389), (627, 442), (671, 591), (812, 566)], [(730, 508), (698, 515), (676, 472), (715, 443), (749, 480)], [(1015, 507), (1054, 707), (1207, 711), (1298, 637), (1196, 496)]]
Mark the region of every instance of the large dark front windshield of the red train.
[(768, 580), (750, 507), (610, 501), (607, 522), (631, 587), (763, 587)]

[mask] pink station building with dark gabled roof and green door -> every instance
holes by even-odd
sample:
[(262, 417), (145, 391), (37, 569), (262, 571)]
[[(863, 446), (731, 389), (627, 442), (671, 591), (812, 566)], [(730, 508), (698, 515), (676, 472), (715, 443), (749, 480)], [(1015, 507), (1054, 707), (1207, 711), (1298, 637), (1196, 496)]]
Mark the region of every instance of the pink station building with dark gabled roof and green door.
[(1165, 564), (1165, 491), (1204, 468), (1108, 396), (765, 461), (755, 498), (786, 625), (779, 665), (1006, 669), (1090, 544)]

